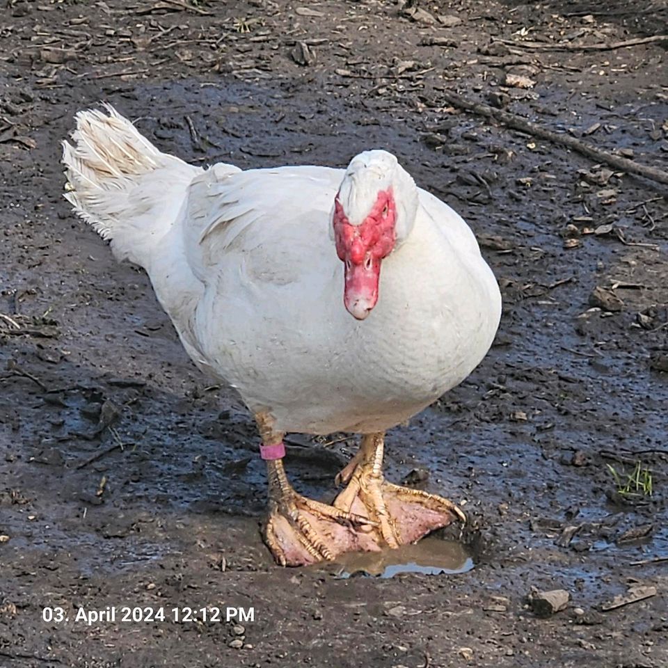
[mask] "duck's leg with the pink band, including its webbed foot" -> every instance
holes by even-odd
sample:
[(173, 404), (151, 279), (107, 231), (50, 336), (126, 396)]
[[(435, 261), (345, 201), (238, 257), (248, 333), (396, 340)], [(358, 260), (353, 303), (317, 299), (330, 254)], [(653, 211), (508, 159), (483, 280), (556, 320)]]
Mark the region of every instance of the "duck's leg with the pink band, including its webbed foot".
[(375, 522), (296, 493), (283, 468), (283, 434), (273, 431), (267, 415), (255, 417), (269, 479), (269, 518), (264, 538), (276, 562), (305, 566), (361, 549), (366, 536), (363, 530), (369, 532)]

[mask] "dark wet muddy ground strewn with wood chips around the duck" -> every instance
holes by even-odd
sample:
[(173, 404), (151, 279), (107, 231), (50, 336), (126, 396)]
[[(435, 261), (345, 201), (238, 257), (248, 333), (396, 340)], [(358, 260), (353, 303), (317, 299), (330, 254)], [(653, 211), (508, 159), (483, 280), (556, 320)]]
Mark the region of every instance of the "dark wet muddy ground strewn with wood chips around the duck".
[[(668, 666), (668, 186), (440, 95), (665, 169), (667, 42), (579, 46), (665, 35), (665, 4), (603, 5), (3, 0), (0, 666)], [(344, 166), (387, 148), (469, 221), (502, 286), (500, 332), (391, 432), (387, 475), (426, 469), (465, 504), (472, 571), (273, 565), (250, 416), (61, 197), (59, 143), (99, 100), (198, 164)], [(331, 498), (353, 451), (295, 437), (287, 468)], [(620, 494), (638, 463), (643, 489)], [(634, 586), (655, 594), (601, 611)], [(536, 617), (532, 587), (571, 602)], [(107, 605), (255, 620), (74, 621)], [(45, 606), (70, 621), (42, 621)]]

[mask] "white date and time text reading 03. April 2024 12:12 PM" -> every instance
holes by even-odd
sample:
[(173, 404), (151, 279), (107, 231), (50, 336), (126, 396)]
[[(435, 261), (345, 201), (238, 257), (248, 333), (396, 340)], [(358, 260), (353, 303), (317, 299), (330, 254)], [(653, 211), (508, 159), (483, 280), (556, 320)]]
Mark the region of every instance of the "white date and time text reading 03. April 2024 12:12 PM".
[(152, 623), (171, 621), (189, 622), (230, 622), (255, 621), (254, 607), (151, 607), (141, 605), (107, 605), (103, 608), (77, 607), (71, 611), (58, 605), (42, 607), (42, 621), (47, 623), (84, 623), (93, 626), (98, 623)]

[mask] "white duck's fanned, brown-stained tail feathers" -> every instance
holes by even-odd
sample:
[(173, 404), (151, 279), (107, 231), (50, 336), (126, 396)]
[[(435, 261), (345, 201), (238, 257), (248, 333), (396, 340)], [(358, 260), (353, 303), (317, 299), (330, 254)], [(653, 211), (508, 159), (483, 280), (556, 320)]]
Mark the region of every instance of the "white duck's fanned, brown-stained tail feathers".
[(73, 143), (63, 142), (65, 198), (111, 239), (118, 260), (148, 268), (202, 169), (161, 153), (111, 105), (104, 109), (77, 113)]

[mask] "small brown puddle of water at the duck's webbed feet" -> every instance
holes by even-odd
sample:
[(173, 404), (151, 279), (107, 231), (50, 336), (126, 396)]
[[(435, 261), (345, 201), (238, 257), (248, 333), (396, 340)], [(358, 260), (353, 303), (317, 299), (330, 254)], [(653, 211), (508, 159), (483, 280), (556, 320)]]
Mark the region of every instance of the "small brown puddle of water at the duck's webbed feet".
[(428, 537), (415, 545), (382, 552), (351, 552), (330, 564), (328, 572), (337, 578), (373, 575), (393, 578), (400, 573), (450, 575), (466, 573), (474, 567), (470, 551), (456, 541)]

